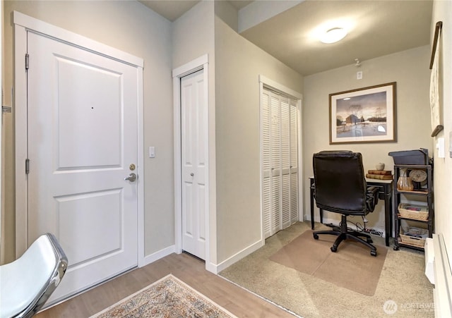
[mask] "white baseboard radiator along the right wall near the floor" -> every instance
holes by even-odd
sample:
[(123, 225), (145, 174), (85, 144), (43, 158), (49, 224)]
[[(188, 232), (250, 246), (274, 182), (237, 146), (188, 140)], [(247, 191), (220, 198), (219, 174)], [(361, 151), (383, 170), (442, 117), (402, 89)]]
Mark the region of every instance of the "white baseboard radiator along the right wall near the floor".
[(442, 234), (426, 241), (425, 275), (435, 286), (435, 317), (452, 318), (452, 272)]

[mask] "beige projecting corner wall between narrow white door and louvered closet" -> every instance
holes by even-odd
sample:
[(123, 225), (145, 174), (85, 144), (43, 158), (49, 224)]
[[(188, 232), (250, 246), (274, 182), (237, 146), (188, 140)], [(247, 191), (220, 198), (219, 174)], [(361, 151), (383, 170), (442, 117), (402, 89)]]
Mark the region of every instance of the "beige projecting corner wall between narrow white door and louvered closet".
[(215, 4), (232, 28), (218, 17), (214, 26), (213, 10), (202, 1), (176, 20), (172, 43), (174, 68), (209, 58), (210, 261), (218, 265), (261, 239), (258, 75), (297, 92), (302, 76), (239, 36), (232, 6)]

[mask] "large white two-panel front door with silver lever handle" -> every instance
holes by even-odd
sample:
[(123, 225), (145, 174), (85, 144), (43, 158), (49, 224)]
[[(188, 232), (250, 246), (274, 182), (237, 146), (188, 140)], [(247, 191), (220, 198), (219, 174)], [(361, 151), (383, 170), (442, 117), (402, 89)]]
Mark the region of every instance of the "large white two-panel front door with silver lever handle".
[(138, 76), (33, 32), (27, 49), (28, 245), (51, 232), (66, 252), (57, 301), (138, 264)]

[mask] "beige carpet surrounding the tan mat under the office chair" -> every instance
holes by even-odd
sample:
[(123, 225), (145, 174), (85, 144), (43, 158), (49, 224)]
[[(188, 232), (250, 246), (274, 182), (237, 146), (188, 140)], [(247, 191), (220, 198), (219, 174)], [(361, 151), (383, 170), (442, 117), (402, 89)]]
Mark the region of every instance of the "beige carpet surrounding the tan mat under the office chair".
[[(372, 296), (270, 260), (310, 227), (299, 222), (276, 233), (266, 245), (221, 271), (220, 276), (304, 318), (434, 317), (433, 286), (424, 275), (424, 253), (406, 248), (395, 251), (392, 239)], [(322, 228), (326, 227), (316, 224), (316, 230)], [(372, 238), (376, 245), (385, 245), (384, 238)], [(350, 281), (355, 279), (359, 274)]]

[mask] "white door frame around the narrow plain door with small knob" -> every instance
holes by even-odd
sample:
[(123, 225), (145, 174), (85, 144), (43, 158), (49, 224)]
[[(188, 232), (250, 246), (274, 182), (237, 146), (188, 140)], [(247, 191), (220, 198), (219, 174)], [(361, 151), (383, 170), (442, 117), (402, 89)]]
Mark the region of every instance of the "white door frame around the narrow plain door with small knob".
[(212, 146), (209, 144), (209, 135), (211, 126), (210, 118), (209, 118), (209, 104), (208, 104), (208, 54), (198, 57), (198, 59), (194, 59), (193, 61), (180, 66), (179, 68), (175, 68), (172, 71), (173, 78), (173, 94), (174, 94), (174, 235), (175, 235), (175, 250), (178, 254), (182, 253), (182, 128), (181, 128), (181, 79), (194, 73), (196, 71), (203, 70), (203, 82), (204, 82), (204, 120), (205, 127), (207, 127), (208, 133), (204, 136), (205, 145), (207, 145), (207, 156), (206, 156), (206, 165), (207, 165), (207, 176), (206, 176), (206, 269), (217, 274), (216, 266), (211, 263), (210, 259), (210, 219), (212, 218), (212, 214), (215, 213), (215, 209), (210, 207), (210, 195), (212, 192), (210, 191), (210, 181), (212, 173), (210, 173), (210, 159), (211, 159), (211, 150)]

